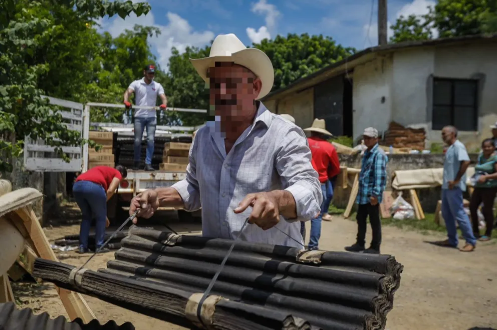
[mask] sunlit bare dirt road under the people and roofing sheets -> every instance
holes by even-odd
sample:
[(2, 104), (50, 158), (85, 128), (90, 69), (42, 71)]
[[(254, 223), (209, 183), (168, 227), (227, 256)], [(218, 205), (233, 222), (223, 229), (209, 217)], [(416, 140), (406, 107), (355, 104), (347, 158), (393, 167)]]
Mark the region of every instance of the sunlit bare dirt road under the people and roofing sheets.
[[(310, 224), (308, 223), (308, 226)], [(199, 233), (194, 224), (172, 223), (176, 231)], [(309, 227), (307, 232), (309, 232)], [(46, 229), (49, 239), (77, 233), (79, 226)], [(370, 240), (368, 227), (368, 242)], [(355, 222), (335, 216), (323, 221), (320, 248), (343, 250), (354, 242)], [(471, 329), (497, 328), (497, 244), (479, 243), (471, 253), (437, 247), (424, 241), (443, 238), (442, 234), (423, 235), (419, 232), (383, 227), (382, 253), (393, 254), (404, 265), (401, 285), (395, 294), (394, 308), (388, 314), (387, 329)], [(58, 252), (64, 262), (81, 265), (89, 255), (74, 251)], [(105, 267), (113, 253), (98, 255), (89, 268)], [(51, 284), (20, 285), (15, 283), (15, 295), (26, 306), (47, 311), (52, 317), (66, 315)], [(131, 321), (137, 329), (183, 329), (141, 314), (85, 296), (101, 322), (114, 319), (119, 324)]]

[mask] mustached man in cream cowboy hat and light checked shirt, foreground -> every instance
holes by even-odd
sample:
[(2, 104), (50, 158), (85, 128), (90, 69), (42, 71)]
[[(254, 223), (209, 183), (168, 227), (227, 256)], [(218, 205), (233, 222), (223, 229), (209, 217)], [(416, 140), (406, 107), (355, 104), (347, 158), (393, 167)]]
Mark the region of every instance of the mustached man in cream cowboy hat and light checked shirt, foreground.
[(130, 213), (141, 208), (138, 216), (147, 218), (159, 205), (201, 207), (204, 236), (301, 248), (298, 220), (319, 213), (321, 187), (303, 130), (259, 101), (273, 87), (271, 60), (221, 34), (209, 57), (190, 61), (208, 84), (215, 120), (197, 131), (186, 178), (137, 195)]

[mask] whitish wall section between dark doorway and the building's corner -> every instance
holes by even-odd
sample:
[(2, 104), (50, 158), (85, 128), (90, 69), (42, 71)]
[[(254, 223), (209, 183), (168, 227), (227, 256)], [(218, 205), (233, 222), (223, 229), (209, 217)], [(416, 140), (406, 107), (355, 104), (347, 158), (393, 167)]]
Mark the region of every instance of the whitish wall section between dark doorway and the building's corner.
[(364, 128), (386, 130), (392, 116), (392, 57), (376, 58), (354, 67), (352, 83), (353, 134)]

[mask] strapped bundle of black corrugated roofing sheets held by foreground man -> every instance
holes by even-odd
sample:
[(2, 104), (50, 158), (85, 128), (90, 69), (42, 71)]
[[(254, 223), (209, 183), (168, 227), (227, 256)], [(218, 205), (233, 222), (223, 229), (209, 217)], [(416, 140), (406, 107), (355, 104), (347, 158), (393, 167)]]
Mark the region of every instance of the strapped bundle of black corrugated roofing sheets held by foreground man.
[(403, 269), (393, 256), (242, 241), (212, 287), (211, 303), (202, 305), (210, 314), (197, 314), (192, 307), (231, 243), (132, 226), (106, 269), (76, 271), (38, 259), (34, 273), (185, 326), (201, 316), (216, 329), (385, 327)]

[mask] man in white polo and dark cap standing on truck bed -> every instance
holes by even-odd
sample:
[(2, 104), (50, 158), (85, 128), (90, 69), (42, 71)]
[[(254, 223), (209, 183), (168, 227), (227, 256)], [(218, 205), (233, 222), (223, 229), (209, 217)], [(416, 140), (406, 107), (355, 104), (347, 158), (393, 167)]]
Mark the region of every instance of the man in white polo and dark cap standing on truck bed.
[[(160, 96), (162, 104), (161, 109), (167, 107), (167, 97), (162, 85), (154, 81), (155, 65), (147, 65), (143, 69), (143, 78), (131, 82), (128, 89), (124, 92), (124, 104), (126, 108), (131, 108), (128, 101), (129, 96), (135, 93), (136, 105), (155, 106), (157, 95)], [(155, 109), (136, 109), (134, 113), (134, 165), (133, 169), (140, 169), (141, 162), (141, 139), (143, 131), (147, 129), (147, 153), (145, 156), (145, 170), (154, 170), (152, 167), (152, 156), (154, 154), (155, 127), (157, 126), (157, 112)]]

